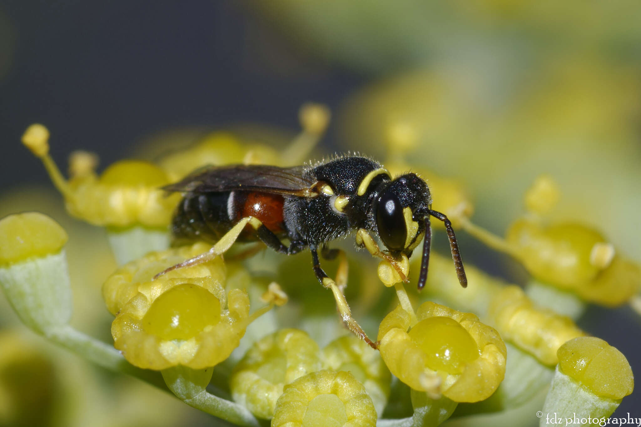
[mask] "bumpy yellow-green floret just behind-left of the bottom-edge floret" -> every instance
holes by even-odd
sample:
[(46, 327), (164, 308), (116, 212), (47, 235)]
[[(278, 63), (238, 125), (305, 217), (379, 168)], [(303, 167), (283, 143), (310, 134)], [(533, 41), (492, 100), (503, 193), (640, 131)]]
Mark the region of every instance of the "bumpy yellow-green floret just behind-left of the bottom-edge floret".
[(283, 329), (254, 342), (234, 368), (231, 396), (256, 417), (270, 419), (283, 387), (320, 369), (319, 347), (297, 329)]

